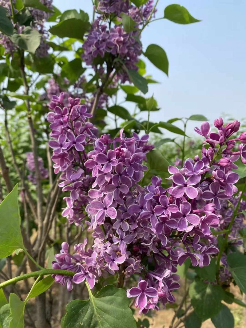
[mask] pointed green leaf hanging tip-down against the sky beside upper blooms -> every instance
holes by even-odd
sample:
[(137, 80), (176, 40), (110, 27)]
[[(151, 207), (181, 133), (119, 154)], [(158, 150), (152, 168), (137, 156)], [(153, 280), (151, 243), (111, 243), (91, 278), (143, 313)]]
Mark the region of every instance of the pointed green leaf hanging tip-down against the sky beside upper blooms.
[(144, 55), (157, 67), (159, 70), (168, 76), (168, 59), (166, 52), (157, 44), (150, 44)]

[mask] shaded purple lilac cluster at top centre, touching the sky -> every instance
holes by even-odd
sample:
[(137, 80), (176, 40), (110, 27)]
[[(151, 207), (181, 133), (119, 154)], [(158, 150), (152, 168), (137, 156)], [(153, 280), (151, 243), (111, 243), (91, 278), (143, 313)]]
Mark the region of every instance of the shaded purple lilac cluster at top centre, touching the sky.
[[(138, 40), (139, 31), (137, 29), (147, 19), (151, 18), (153, 8), (152, 0), (140, 6), (140, 9), (130, 5), (129, 1), (99, 1), (96, 8), (99, 11), (99, 16), (92, 23), (92, 29), (89, 31), (87, 39), (83, 44), (84, 53), (82, 58), (86, 64), (92, 65), (95, 57), (103, 58), (106, 53), (110, 53), (112, 57), (111, 63), (117, 58), (117, 63), (123, 61), (124, 66), (128, 69), (137, 69), (135, 64), (142, 53), (142, 46)], [(121, 23), (121, 13), (129, 15), (136, 22), (136, 31), (131, 31), (130, 33), (124, 31)], [(117, 18), (119, 24), (114, 27), (111, 27), (111, 24), (107, 26), (105, 20), (107, 20), (108, 15), (112, 16), (111, 20)], [(115, 61), (114, 68), (116, 68), (117, 63)], [(124, 83), (128, 80), (128, 76), (124, 70), (120, 70), (122, 64), (118, 64), (118, 66), (117, 76)]]

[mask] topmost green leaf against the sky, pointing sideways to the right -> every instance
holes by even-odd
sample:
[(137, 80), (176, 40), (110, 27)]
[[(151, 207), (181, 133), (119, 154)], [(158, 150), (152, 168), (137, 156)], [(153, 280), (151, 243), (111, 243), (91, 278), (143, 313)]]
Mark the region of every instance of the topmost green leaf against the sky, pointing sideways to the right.
[(189, 11), (180, 5), (170, 5), (164, 10), (164, 18), (177, 24), (191, 24), (200, 22), (192, 17)]

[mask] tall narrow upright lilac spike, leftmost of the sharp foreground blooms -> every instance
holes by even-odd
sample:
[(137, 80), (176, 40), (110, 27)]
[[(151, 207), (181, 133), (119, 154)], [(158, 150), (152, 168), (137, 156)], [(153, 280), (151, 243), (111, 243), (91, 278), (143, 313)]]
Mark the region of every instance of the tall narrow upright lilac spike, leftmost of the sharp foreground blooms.
[(49, 146), (53, 149), (54, 172), (61, 173), (63, 182), (59, 186), (63, 191), (70, 191), (70, 197), (65, 197), (67, 207), (62, 215), (67, 216), (70, 223), (80, 225), (85, 217), (83, 211), (87, 204), (87, 193), (94, 181), (84, 165), (88, 158), (85, 147), (94, 144), (97, 129), (92, 123), (86, 122), (92, 115), (87, 113), (85, 105), (80, 105), (79, 98), (69, 97), (66, 103), (63, 92), (59, 97), (52, 96), (52, 112), (47, 116), (53, 138)]

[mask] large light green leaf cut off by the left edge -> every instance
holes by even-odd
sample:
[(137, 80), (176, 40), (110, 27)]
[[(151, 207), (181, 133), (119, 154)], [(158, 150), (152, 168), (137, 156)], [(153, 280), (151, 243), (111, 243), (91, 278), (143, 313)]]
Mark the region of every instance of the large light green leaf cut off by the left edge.
[(24, 249), (20, 223), (16, 184), (0, 204), (0, 258), (11, 255), (18, 248)]

